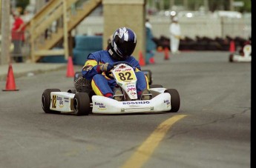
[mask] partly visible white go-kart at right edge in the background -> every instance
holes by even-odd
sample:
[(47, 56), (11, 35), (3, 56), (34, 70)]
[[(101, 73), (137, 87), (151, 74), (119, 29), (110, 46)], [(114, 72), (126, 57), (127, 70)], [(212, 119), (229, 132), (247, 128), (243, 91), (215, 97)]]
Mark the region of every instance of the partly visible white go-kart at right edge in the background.
[(251, 44), (246, 44), (243, 50), (239, 53), (231, 53), (229, 55), (229, 62), (251, 62), (252, 61), (252, 46)]

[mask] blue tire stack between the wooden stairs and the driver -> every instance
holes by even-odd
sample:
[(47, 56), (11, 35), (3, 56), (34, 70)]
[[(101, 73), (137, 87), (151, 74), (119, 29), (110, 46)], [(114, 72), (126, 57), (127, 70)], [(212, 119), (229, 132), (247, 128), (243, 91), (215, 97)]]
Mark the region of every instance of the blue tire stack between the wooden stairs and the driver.
[(102, 36), (75, 36), (73, 64), (84, 65), (89, 53), (102, 50)]

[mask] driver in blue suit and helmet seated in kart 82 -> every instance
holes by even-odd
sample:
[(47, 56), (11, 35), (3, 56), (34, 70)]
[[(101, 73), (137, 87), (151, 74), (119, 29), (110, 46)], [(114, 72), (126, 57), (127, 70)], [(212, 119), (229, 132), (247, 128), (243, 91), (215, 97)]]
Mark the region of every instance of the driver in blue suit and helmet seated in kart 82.
[(117, 101), (123, 100), (122, 91), (116, 87), (116, 81), (108, 78), (108, 73), (116, 61), (125, 61), (134, 67), (137, 77), (137, 94), (141, 100), (151, 99), (151, 93), (148, 90), (148, 78), (140, 71), (140, 64), (131, 56), (137, 44), (137, 36), (133, 30), (128, 27), (120, 27), (111, 36), (107, 50), (99, 50), (88, 55), (84, 67), (82, 67), (82, 76), (91, 81), (91, 87), (96, 95), (103, 95), (108, 98), (114, 98)]

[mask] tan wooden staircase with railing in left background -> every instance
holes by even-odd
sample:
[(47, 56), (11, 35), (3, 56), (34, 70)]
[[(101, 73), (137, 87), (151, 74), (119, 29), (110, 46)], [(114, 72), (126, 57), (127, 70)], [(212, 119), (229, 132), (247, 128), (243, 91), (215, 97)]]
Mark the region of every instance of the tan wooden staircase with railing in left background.
[[(64, 55), (68, 59), (68, 36), (102, 0), (51, 0), (26, 25), (33, 62), (43, 56)], [(47, 31), (54, 30), (49, 34)], [(63, 50), (52, 50), (63, 40)]]

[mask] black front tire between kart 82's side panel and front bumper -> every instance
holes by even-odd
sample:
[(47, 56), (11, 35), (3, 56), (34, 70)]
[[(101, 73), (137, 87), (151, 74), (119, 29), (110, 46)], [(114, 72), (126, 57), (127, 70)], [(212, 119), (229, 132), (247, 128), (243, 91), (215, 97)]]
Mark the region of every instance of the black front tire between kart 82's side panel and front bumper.
[(88, 93), (76, 93), (73, 98), (73, 112), (75, 115), (88, 115), (91, 112)]

